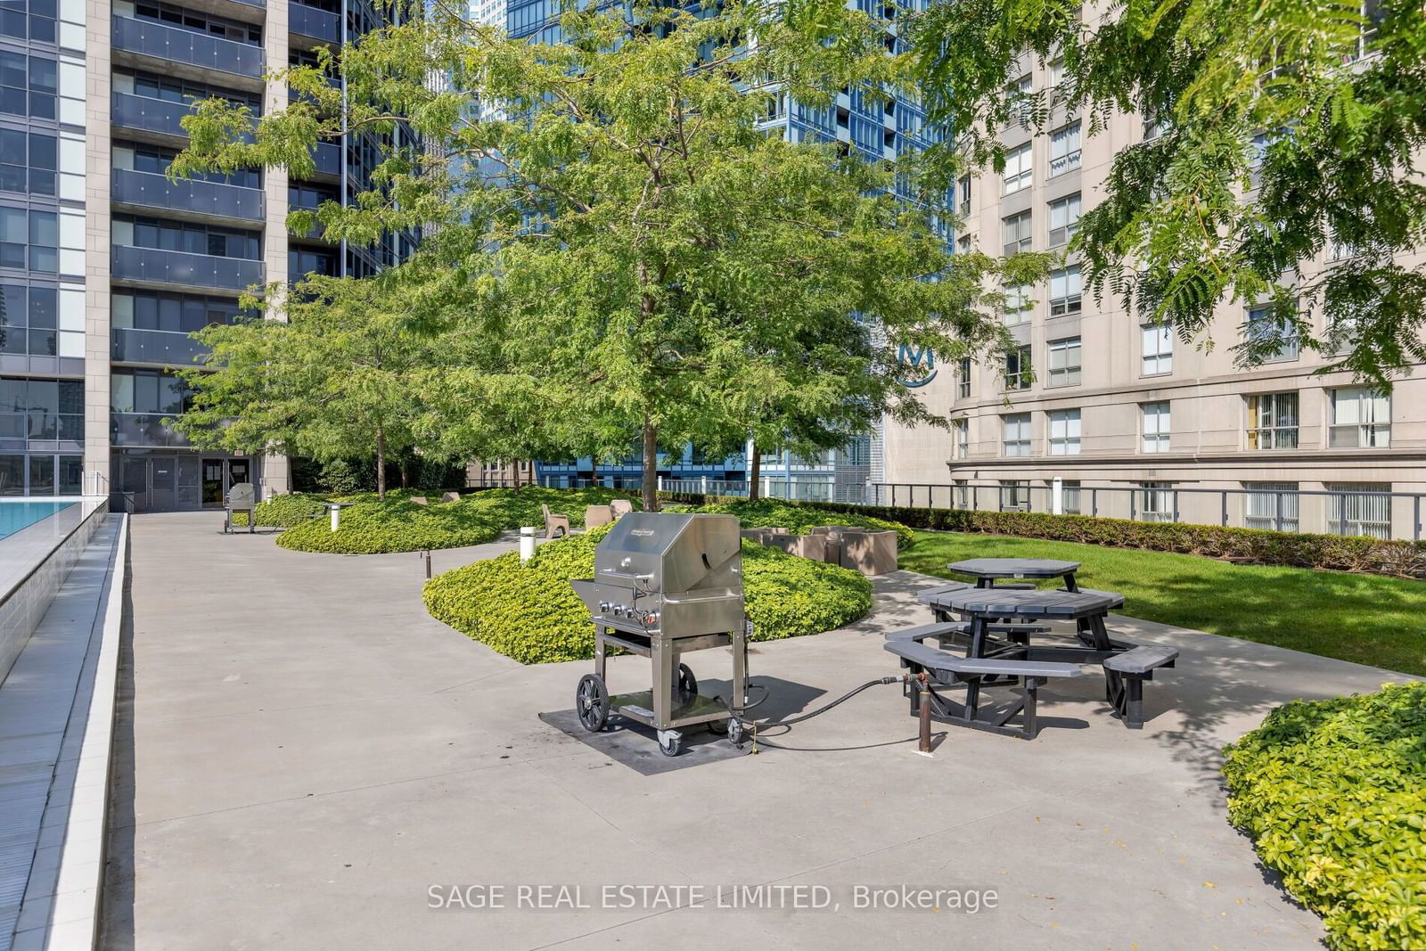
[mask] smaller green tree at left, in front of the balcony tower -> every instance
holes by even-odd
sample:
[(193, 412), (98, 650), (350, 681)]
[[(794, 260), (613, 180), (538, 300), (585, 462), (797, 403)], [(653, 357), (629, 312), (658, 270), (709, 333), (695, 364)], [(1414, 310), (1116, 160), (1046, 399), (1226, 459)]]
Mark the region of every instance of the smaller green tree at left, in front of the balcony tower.
[(375, 455), (385, 498), (386, 459), (415, 445), (426, 412), (421, 382), (442, 348), (412, 332), (409, 314), (375, 279), (312, 275), (247, 304), (265, 317), (194, 335), (212, 352), (204, 366), (178, 371), (195, 395), (174, 429), (231, 452), (275, 448), (321, 462)]

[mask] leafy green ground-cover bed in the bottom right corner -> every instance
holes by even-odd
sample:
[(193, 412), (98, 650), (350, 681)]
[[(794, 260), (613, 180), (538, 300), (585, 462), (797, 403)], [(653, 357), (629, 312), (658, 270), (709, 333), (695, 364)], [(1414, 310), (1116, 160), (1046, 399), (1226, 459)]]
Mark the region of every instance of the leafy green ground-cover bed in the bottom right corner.
[(1225, 757), (1229, 820), (1330, 947), (1426, 947), (1426, 683), (1289, 703)]

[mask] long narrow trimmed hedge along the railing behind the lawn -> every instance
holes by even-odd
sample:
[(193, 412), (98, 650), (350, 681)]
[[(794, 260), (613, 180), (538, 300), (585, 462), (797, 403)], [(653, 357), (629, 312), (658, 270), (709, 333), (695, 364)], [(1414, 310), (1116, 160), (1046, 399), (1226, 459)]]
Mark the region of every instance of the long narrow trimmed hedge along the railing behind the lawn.
[[(1236, 529), (1221, 525), (1131, 522), (1087, 515), (1040, 512), (971, 512), (837, 503), (787, 503), (898, 522), (917, 529), (1017, 535), (1057, 542), (1081, 542), (1151, 552), (1232, 557), (1261, 565), (1372, 572), (1397, 577), (1426, 577), (1426, 542), (1395, 542), (1340, 535)], [(820, 516), (821, 518), (821, 516)]]

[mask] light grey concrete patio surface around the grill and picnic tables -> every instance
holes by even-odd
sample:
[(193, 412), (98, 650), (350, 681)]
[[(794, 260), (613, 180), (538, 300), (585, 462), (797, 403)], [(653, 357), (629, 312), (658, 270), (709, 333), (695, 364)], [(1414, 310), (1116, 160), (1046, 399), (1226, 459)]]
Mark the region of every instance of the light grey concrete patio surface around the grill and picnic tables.
[[(1218, 750), (1288, 699), (1402, 679), (1121, 619), (1184, 652), (1141, 733), (1085, 677), (1041, 692), (1038, 740), (953, 730), (925, 759), (880, 687), (760, 756), (642, 776), (536, 719), (588, 663), (522, 667), (429, 619), (416, 556), (301, 555), (220, 520), (133, 522), (106, 947), (1315, 947), (1316, 917), (1224, 818)], [(927, 617), (923, 583), (880, 582), (850, 630), (759, 644), (766, 709), (896, 673), (880, 630)], [(724, 660), (692, 664), (707, 683)], [(613, 660), (615, 689), (643, 663)], [(485, 884), (508, 905), (518, 884), (580, 885), (595, 907), (428, 908), (432, 885)], [(824, 885), (843, 907), (600, 907), (619, 884)], [(850, 907), (856, 885), (901, 884), (998, 907)]]

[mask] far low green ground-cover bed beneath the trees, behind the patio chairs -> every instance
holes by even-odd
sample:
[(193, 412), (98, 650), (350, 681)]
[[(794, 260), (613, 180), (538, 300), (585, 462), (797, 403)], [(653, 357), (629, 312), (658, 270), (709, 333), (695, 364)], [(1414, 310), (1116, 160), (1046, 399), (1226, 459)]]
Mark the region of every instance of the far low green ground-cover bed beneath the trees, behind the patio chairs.
[[(385, 552), (419, 552), (424, 549), (461, 548), (493, 542), (502, 532), (522, 525), (545, 525), (542, 505), (552, 512), (569, 515), (575, 528), (585, 523), (585, 506), (607, 505), (610, 499), (625, 498), (613, 489), (543, 489), (525, 486), (513, 489), (489, 489), (472, 492), (459, 502), (438, 502), (439, 492), (429, 493), (428, 505), (411, 500), (419, 492), (388, 492), (385, 500), (374, 493), (341, 496), (337, 500), (351, 502), (342, 509), (339, 528), (331, 530), (328, 519), (298, 519), (292, 528), (278, 538), (278, 545), (298, 552), (329, 552), (338, 555), (376, 555)], [(281, 499), (302, 499), (301, 505), (321, 510), (321, 496), (278, 496)], [(633, 500), (637, 505), (637, 500)], [(264, 503), (267, 505), (267, 503)], [(289, 503), (294, 510), (299, 503)], [(258, 506), (258, 525), (262, 510)]]

